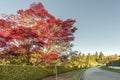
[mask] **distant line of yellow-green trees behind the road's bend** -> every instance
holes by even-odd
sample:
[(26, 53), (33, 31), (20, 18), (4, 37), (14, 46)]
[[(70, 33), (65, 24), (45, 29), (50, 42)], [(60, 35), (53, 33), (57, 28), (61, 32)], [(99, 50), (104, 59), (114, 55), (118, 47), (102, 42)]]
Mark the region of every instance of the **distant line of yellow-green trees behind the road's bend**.
[(70, 56), (70, 59), (66, 63), (78, 67), (92, 67), (103, 64), (106, 65), (118, 59), (120, 59), (120, 56), (117, 54), (106, 56), (103, 52), (96, 52), (94, 54), (88, 53), (85, 55), (84, 53), (76, 52), (76, 54)]

